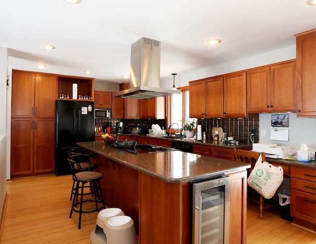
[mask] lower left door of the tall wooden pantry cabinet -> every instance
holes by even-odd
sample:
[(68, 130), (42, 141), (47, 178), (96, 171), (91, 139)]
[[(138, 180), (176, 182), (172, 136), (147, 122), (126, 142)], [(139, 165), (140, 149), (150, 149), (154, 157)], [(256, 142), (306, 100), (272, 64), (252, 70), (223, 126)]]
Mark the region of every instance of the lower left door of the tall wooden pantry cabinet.
[(11, 119), (11, 175), (33, 173), (34, 128), (32, 118)]

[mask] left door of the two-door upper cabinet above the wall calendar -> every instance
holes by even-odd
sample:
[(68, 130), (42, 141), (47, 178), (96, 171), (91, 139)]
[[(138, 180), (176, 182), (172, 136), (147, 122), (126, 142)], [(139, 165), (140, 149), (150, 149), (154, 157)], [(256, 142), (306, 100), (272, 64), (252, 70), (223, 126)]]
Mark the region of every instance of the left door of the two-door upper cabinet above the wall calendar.
[(247, 71), (247, 111), (270, 110), (270, 68)]

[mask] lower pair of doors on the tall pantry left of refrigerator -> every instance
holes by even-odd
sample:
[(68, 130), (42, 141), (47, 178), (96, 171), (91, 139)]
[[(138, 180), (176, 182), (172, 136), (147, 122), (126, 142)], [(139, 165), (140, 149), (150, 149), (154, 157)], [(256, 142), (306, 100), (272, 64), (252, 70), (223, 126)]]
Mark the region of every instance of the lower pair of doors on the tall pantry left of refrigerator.
[(11, 176), (54, 172), (55, 119), (12, 118), (11, 128)]

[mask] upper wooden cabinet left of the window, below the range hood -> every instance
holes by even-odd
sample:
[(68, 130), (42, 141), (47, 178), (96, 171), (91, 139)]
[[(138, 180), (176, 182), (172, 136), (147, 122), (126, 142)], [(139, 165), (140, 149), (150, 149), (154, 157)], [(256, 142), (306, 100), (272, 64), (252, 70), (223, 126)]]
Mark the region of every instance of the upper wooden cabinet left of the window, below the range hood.
[(165, 119), (165, 98), (139, 100), (139, 118), (141, 119)]

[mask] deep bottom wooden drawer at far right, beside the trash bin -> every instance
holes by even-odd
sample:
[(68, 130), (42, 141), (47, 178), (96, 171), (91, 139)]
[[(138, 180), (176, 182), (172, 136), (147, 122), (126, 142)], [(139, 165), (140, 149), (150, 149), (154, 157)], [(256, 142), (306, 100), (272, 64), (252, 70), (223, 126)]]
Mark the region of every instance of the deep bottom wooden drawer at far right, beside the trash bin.
[(291, 216), (316, 224), (316, 195), (291, 189)]

